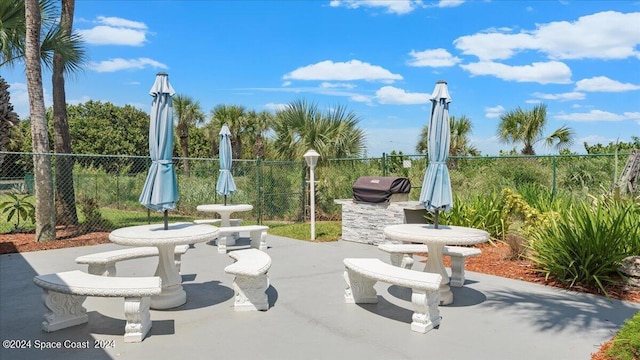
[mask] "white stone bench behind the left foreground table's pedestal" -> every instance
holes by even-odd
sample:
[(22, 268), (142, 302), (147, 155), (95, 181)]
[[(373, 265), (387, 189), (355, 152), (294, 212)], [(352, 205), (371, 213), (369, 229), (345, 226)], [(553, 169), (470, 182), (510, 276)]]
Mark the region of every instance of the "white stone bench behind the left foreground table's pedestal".
[[(178, 272), (182, 263), (182, 255), (189, 250), (189, 245), (178, 245), (174, 252), (174, 262)], [(158, 248), (132, 247), (121, 250), (105, 251), (101, 253), (82, 255), (76, 258), (76, 263), (89, 265), (88, 272), (93, 275), (116, 276), (116, 263), (124, 260), (140, 259), (158, 256)]]

